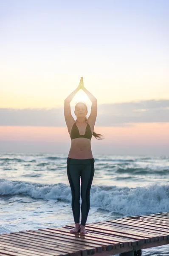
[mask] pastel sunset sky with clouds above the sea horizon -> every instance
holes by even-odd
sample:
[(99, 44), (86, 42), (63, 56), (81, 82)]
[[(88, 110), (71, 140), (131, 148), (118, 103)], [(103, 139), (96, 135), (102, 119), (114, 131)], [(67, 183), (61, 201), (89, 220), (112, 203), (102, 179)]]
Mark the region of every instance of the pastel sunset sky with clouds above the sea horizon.
[[(169, 156), (168, 0), (0, 0), (0, 152), (67, 154), (64, 99), (98, 102), (94, 154)], [(91, 101), (82, 90), (70, 102)]]

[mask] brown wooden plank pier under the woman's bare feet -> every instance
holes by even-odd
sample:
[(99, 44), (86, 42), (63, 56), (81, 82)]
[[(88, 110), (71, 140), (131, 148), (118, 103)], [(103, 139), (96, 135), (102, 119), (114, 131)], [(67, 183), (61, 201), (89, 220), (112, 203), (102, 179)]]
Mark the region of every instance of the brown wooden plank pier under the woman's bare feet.
[(141, 249), (169, 244), (169, 212), (86, 223), (87, 234), (65, 227), (0, 234), (0, 256), (141, 256)]

